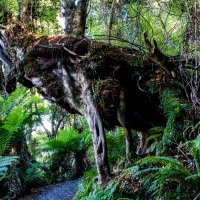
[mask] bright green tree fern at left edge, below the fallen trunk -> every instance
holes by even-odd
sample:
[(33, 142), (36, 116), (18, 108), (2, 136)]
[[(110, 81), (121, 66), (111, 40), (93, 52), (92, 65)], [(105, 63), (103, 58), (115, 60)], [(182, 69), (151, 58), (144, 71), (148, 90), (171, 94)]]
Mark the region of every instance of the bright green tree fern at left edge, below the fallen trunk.
[(7, 100), (0, 100), (0, 154), (3, 154), (14, 133), (23, 128), (32, 115), (27, 108), (39, 101), (36, 96), (26, 96), (25, 89), (18, 88)]

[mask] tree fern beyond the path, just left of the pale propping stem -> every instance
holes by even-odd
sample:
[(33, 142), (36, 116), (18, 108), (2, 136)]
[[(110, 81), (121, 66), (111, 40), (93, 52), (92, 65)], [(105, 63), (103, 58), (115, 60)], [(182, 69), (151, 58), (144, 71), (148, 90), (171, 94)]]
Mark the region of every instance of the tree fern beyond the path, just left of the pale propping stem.
[(50, 170), (60, 175), (66, 173), (79, 178), (90, 166), (87, 152), (91, 146), (91, 134), (88, 130), (78, 133), (68, 128), (59, 131), (55, 138), (47, 141), (42, 150), (51, 153), (51, 157), (46, 160)]

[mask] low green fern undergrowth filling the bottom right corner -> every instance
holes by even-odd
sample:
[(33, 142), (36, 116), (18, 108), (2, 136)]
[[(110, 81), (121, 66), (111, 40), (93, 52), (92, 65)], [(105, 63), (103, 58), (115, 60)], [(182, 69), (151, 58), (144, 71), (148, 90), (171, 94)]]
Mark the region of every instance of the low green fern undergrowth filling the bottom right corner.
[(152, 199), (197, 200), (200, 197), (200, 136), (190, 142), (189, 149), (195, 165), (191, 160), (185, 166), (185, 162), (175, 158), (151, 156), (140, 159), (125, 172), (133, 181), (139, 181)]

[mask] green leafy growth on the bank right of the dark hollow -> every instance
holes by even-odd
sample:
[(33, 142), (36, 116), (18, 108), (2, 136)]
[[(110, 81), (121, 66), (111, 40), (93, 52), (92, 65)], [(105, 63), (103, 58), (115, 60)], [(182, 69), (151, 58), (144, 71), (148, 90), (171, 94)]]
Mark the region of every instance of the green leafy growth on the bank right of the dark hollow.
[[(187, 119), (189, 105), (179, 98), (179, 94), (179, 91), (170, 90), (165, 90), (161, 94), (161, 105), (167, 117), (162, 138), (164, 149), (179, 144), (180, 141), (185, 141), (184, 137), (189, 133), (189, 130), (185, 130), (192, 124), (192, 121)], [(186, 120), (184, 120), (185, 118)]]

